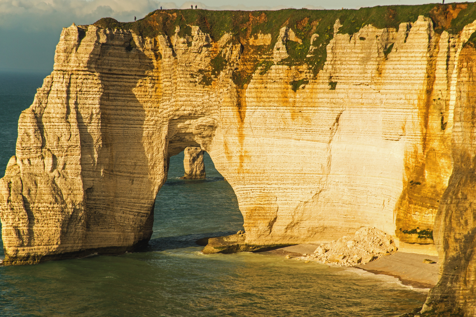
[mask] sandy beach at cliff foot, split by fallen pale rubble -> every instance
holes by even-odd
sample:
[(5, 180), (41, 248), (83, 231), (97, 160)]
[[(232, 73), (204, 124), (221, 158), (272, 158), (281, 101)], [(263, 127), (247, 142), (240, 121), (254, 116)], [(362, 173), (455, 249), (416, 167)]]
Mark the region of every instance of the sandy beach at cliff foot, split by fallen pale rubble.
[[(277, 254), (283, 257), (287, 255), (290, 257), (300, 257), (305, 253), (313, 253), (316, 248), (317, 244), (297, 244), (265, 253)], [(425, 259), (430, 259), (436, 263), (424, 263)], [(415, 288), (432, 288), (438, 282), (437, 262), (438, 257), (436, 256), (397, 251), (355, 267), (374, 274), (393, 276), (404, 285), (410, 285)]]

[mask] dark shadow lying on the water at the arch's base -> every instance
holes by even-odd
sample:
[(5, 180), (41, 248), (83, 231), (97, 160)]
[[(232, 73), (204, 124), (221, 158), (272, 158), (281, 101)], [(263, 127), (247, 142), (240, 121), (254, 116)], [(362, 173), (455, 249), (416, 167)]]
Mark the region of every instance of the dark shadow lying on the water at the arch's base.
[(135, 250), (136, 252), (164, 251), (178, 248), (198, 247), (195, 242), (207, 237), (222, 237), (236, 233), (235, 231), (218, 231), (208, 233), (195, 233), (178, 237), (163, 237), (150, 239), (149, 244)]

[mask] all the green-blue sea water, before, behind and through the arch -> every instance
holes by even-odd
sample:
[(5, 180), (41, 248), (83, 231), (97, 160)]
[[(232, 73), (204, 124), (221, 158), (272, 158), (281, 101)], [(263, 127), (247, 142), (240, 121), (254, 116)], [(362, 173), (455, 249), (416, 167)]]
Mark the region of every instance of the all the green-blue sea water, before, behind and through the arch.
[[(20, 112), (47, 74), (0, 73), (0, 169), (15, 151)], [(0, 316), (398, 316), (426, 293), (352, 268), (262, 253), (200, 253), (194, 241), (242, 228), (230, 185), (205, 155), (207, 179), (185, 181), (170, 159), (146, 250), (0, 267)], [(3, 173), (1, 173), (3, 175)]]

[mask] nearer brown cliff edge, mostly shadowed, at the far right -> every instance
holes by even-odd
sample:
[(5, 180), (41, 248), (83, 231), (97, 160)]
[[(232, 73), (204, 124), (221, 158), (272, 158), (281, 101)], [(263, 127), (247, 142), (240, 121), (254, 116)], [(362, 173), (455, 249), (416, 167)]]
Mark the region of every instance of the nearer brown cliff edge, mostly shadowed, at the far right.
[[(458, 312), (476, 316), (476, 45), (459, 54), (455, 123), (452, 135), (453, 173), (441, 198), (435, 221), (440, 281), (423, 311)], [(431, 315), (430, 315), (431, 316)]]

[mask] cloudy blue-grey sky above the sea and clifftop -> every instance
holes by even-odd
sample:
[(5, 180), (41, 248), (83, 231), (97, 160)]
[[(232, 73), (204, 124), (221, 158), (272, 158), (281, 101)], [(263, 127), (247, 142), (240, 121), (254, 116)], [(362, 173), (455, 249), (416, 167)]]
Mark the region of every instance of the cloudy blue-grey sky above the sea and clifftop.
[[(111, 17), (121, 22), (159, 9), (207, 10), (358, 9), (377, 5), (424, 4), (425, 0), (0, 0), (0, 71), (45, 72), (53, 69), (62, 28)], [(439, 1), (438, 1), (439, 2)]]

